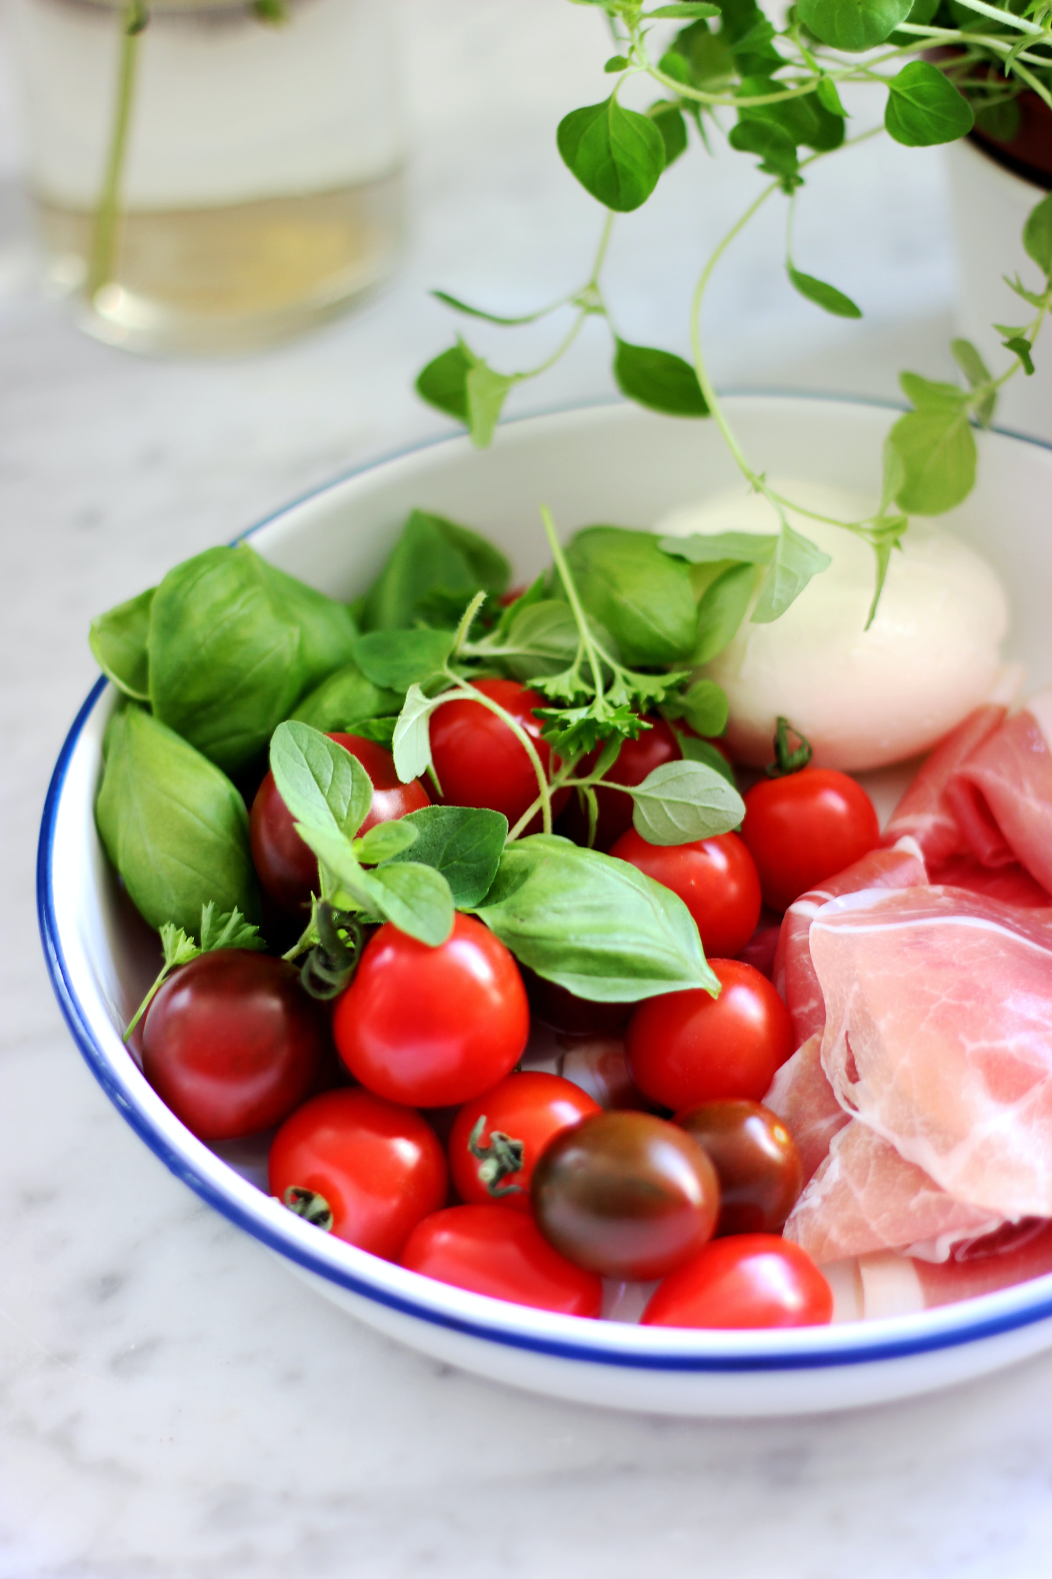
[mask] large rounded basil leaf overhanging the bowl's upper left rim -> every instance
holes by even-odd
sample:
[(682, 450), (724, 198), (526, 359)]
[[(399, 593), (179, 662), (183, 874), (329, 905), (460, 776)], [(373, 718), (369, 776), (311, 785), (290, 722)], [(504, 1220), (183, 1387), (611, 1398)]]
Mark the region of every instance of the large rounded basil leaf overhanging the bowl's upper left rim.
[(274, 570), (246, 543), (169, 570), (150, 616), (150, 701), (227, 772), (257, 756), (300, 696), (352, 658), (342, 603)]

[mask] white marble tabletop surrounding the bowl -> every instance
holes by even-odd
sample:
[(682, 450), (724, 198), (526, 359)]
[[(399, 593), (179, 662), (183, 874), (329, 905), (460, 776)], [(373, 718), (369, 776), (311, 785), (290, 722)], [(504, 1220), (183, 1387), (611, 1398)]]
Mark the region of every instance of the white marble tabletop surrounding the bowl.
[[(297, 491), (437, 431), (410, 392), (450, 336), (427, 286), (528, 303), (573, 283), (591, 245), (595, 208), (552, 129), (604, 92), (595, 19), (566, 0), (399, 9), (416, 133), (405, 267), (353, 317), (267, 355), (142, 362), (79, 336), (35, 286), (0, 92), (0, 1576), (1044, 1579), (1052, 1358), (776, 1424), (503, 1391), (353, 1325), (199, 1205), (60, 1020), (33, 846), (95, 673), (88, 617)], [(683, 349), (699, 253), (741, 204), (740, 175), (694, 156), (621, 226), (610, 284), (628, 338)], [(938, 376), (953, 276), (937, 155), (875, 142), (830, 161), (796, 253), (864, 303), (866, 327), (790, 295), (771, 215), (714, 292), (718, 377), (893, 395), (897, 366)], [(530, 401), (606, 388), (595, 325)]]

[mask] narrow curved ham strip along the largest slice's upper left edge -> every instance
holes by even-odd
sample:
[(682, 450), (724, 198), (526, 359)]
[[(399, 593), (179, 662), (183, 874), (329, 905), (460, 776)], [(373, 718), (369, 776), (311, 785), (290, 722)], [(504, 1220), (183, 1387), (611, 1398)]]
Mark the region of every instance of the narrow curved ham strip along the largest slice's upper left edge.
[(801, 894), (789, 906), (778, 938), (771, 979), (789, 1009), (796, 1047), (809, 1036), (822, 1034), (825, 1026), (825, 1003), (808, 944), (811, 922), (819, 910), (831, 898), (855, 894), (860, 889), (915, 887), (926, 881), (924, 862), (913, 842), (905, 838), (894, 850), (871, 850), (855, 865), (830, 878), (820, 889)]

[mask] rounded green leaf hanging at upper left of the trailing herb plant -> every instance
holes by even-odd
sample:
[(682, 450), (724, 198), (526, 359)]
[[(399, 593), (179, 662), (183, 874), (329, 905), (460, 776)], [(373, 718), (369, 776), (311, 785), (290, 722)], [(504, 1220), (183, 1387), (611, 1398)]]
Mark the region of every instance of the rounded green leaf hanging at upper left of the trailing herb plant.
[(614, 95), (563, 117), (555, 133), (563, 163), (598, 202), (615, 213), (645, 204), (664, 169), (664, 139), (647, 115), (621, 109)]

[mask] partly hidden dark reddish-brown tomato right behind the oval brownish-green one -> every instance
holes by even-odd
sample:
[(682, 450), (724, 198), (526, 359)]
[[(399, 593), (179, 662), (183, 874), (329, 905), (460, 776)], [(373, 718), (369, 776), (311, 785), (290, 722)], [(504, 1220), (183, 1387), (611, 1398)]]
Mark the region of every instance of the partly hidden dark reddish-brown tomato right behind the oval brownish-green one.
[(803, 1189), (796, 1142), (759, 1102), (702, 1102), (675, 1123), (697, 1140), (719, 1175), (722, 1233), (776, 1233)]

